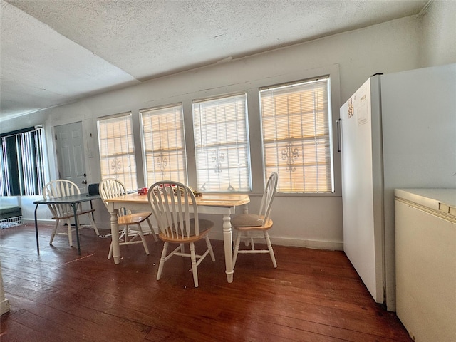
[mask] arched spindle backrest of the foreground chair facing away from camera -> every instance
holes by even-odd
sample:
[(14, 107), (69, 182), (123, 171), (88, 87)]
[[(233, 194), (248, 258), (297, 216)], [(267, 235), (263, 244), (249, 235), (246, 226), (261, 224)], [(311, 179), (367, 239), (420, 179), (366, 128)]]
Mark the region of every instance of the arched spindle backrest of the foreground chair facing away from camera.
[[(170, 238), (199, 235), (198, 207), (192, 190), (180, 182), (155, 182), (147, 192), (152, 212), (162, 234)], [(195, 232), (190, 219), (195, 219)]]

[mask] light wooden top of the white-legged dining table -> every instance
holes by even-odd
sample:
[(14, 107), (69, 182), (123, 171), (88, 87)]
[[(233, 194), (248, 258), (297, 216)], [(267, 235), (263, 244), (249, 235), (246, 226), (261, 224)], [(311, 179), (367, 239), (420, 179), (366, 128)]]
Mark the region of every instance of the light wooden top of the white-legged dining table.
[[(237, 207), (250, 202), (249, 195), (244, 194), (203, 194), (196, 197), (197, 204), (211, 207)], [(137, 193), (106, 199), (106, 202), (148, 203), (147, 195)]]

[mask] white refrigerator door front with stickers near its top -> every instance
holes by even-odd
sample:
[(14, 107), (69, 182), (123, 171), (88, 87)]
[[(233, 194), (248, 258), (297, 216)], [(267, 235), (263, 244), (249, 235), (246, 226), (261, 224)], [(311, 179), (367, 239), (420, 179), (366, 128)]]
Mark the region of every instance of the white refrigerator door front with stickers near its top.
[(341, 153), (343, 250), (375, 301), (382, 303), (373, 214), (371, 79), (341, 108)]

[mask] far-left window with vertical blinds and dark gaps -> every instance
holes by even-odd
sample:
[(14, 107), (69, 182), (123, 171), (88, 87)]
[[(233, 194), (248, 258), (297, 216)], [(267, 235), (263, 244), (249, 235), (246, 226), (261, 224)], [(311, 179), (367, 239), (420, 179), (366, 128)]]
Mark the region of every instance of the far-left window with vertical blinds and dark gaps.
[(45, 160), (41, 126), (2, 134), (1, 195), (41, 195), (45, 184)]

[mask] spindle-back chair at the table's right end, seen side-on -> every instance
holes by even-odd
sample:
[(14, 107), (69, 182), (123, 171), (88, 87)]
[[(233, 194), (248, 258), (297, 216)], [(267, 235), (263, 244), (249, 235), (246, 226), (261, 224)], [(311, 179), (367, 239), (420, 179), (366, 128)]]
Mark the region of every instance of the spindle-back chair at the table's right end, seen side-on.
[[(233, 267), (236, 265), (237, 254), (269, 253), (272, 264), (277, 267), (274, 249), (272, 249), (268, 230), (272, 228), (271, 207), (274, 195), (276, 194), (278, 175), (272, 172), (266, 183), (263, 198), (259, 208), (259, 214), (239, 214), (232, 218), (231, 224), (237, 231), (234, 242)], [(254, 235), (254, 232), (263, 232), (262, 236)], [(255, 249), (254, 239), (265, 239), (268, 249)], [(239, 249), (241, 239), (247, 239), (246, 245), (250, 244), (250, 249)]]

